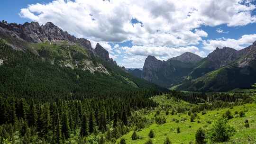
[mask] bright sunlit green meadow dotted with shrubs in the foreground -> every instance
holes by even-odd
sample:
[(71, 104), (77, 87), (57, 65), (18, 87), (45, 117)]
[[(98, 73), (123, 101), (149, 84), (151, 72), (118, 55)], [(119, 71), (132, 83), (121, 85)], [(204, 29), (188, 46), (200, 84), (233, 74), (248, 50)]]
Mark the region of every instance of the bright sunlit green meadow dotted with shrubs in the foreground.
[[(129, 132), (127, 135), (124, 135), (123, 138), (126, 139), (127, 144), (145, 144), (149, 139), (148, 133), (150, 130), (153, 130), (155, 137), (151, 138), (153, 144), (164, 144), (166, 137), (169, 137), (172, 144), (189, 144), (195, 142), (196, 131), (201, 127), (204, 130), (208, 131), (214, 120), (217, 117), (222, 117), (227, 110), (230, 110), (234, 118), (229, 120), (229, 124), (234, 126), (236, 129), (235, 135), (233, 135), (227, 144), (247, 144), (248, 141), (251, 144), (256, 142), (256, 104), (244, 104), (240, 106), (234, 106), (229, 108), (218, 108), (214, 110), (205, 110), (204, 113), (197, 113), (195, 122), (190, 121), (190, 116), (188, 116), (187, 111), (183, 113), (177, 113), (174, 115), (166, 115), (163, 107), (166, 108), (167, 105), (172, 107), (187, 107), (191, 108), (193, 105), (184, 101), (177, 101), (175, 99), (166, 99), (165, 96), (156, 96), (153, 98), (157, 103), (160, 104), (158, 108), (147, 112), (144, 116), (148, 119), (155, 119), (156, 117), (165, 117), (166, 123), (158, 125), (153, 123), (152, 125), (143, 128), (137, 129), (137, 135), (139, 139), (132, 140), (131, 135), (133, 131)], [(160, 111), (160, 114), (156, 114)], [(234, 113), (238, 111), (244, 111), (245, 117), (239, 117), (238, 114)], [(141, 113), (140, 113), (141, 114)], [(250, 127), (245, 127), (245, 120), (249, 121)], [(177, 133), (177, 127), (180, 127), (180, 133)]]

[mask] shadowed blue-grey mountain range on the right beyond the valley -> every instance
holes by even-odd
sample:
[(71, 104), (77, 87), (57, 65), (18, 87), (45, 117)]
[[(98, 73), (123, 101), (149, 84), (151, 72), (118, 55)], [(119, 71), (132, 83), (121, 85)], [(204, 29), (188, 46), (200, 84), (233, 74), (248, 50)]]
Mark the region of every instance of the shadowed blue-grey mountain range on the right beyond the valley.
[[(130, 72), (138, 76), (140, 71)], [(256, 83), (256, 42), (242, 50), (216, 48), (206, 58), (184, 53), (167, 61), (148, 56), (141, 78), (175, 90), (228, 91)]]

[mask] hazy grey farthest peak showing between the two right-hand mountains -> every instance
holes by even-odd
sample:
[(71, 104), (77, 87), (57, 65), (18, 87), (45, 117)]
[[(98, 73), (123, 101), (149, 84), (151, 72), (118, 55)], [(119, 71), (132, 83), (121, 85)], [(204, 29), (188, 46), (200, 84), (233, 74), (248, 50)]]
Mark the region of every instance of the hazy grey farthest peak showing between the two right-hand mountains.
[(170, 58), (169, 60), (167, 61), (171, 61), (171, 60), (179, 60), (183, 63), (196, 63), (196, 62), (199, 62), (201, 61), (203, 58), (200, 57), (199, 55), (197, 54), (193, 54), (193, 53), (190, 53), (190, 52), (186, 52), (184, 54), (181, 54), (177, 57), (173, 57), (173, 58)]

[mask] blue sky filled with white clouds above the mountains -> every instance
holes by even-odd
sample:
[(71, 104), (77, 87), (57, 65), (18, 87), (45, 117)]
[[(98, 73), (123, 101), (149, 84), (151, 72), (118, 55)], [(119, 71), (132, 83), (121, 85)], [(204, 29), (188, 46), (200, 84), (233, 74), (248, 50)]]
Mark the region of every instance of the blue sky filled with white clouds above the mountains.
[(207, 56), (256, 41), (255, 0), (3, 0), (0, 19), (48, 21), (99, 42), (121, 66), (141, 68), (147, 55)]

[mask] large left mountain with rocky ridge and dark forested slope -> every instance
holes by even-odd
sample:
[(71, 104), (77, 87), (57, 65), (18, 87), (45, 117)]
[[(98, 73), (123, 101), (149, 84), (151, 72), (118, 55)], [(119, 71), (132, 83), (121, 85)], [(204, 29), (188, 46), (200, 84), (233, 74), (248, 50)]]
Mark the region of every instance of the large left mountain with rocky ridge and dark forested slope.
[(165, 91), (123, 71), (101, 45), (93, 49), (90, 41), (77, 39), (52, 23), (0, 23), (0, 38), (4, 96), (127, 97)]

